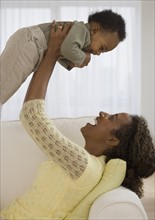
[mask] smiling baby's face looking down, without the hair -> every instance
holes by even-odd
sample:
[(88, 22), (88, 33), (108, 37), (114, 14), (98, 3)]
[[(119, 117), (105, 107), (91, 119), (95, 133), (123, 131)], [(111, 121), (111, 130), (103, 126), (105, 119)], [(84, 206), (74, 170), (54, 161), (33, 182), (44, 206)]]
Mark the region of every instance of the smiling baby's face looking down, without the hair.
[(86, 51), (93, 55), (100, 55), (113, 50), (119, 44), (117, 32), (97, 30), (91, 34), (91, 43), (86, 48)]

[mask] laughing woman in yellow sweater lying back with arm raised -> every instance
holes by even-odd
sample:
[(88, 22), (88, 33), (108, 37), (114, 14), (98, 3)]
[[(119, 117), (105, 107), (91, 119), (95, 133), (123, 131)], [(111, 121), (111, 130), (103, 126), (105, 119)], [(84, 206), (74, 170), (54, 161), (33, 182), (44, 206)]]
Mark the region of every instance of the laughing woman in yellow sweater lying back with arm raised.
[(63, 30), (54, 29), (53, 24), (47, 52), (30, 82), (21, 110), (23, 125), (50, 160), (41, 165), (32, 188), (2, 211), (5, 219), (66, 218), (99, 183), (105, 163), (111, 158), (127, 162), (122, 185), (139, 197), (142, 178), (155, 171), (155, 149), (142, 117), (100, 112), (95, 125), (88, 123), (81, 128), (85, 149), (55, 128), (46, 115), (44, 100), (69, 25)]

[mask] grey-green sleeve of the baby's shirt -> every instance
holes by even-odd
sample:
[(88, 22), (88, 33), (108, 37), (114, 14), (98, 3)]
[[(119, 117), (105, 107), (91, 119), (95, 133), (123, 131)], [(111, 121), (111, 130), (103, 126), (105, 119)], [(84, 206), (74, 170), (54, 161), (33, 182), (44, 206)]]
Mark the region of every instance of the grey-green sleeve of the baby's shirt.
[(74, 21), (61, 45), (61, 55), (75, 65), (80, 66), (86, 54), (83, 49), (90, 44), (90, 32), (83, 22)]

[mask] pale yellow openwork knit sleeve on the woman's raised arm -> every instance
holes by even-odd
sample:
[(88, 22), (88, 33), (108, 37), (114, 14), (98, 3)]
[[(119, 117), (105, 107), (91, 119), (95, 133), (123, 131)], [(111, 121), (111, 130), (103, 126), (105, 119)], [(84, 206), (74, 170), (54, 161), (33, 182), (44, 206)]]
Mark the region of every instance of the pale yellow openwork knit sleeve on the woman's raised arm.
[(79, 178), (88, 164), (85, 149), (70, 141), (55, 127), (45, 112), (44, 100), (24, 103), (20, 119), (41, 150), (73, 178)]

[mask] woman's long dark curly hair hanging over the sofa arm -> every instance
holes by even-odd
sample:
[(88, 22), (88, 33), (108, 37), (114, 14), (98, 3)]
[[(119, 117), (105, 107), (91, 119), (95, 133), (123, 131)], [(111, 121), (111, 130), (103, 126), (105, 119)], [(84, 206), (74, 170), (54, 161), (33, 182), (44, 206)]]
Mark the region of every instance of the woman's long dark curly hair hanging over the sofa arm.
[(127, 162), (127, 172), (122, 185), (141, 198), (143, 178), (155, 172), (155, 147), (147, 122), (142, 116), (133, 115), (130, 124), (112, 133), (120, 142), (118, 146), (105, 153), (107, 161), (120, 158)]

